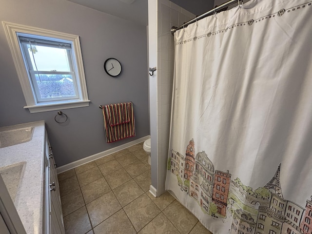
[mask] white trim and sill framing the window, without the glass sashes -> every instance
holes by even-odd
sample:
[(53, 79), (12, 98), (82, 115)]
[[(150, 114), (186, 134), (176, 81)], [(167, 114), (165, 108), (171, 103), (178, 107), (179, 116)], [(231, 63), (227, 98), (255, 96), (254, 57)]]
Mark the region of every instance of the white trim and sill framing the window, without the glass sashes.
[[(10, 50), (13, 56), (14, 64), (20, 79), (20, 85), (25, 97), (26, 106), (25, 109), (29, 109), (30, 113), (38, 113), (44, 111), (55, 111), (59, 109), (69, 109), (77, 107), (89, 106), (90, 100), (88, 99), (87, 85), (85, 81), (84, 68), (82, 62), (81, 48), (79, 36), (56, 32), (48, 29), (41, 29), (31, 26), (25, 26), (16, 23), (10, 23), (2, 21), (4, 30), (9, 42)], [(38, 103), (33, 96), (32, 86), (30, 84), (28, 73), (24, 65), (24, 60), (20, 52), (20, 44), (17, 37), (17, 33), (34, 34), (44, 37), (58, 38), (69, 40), (73, 42), (73, 49), (75, 50), (77, 71), (80, 82), (80, 99), (78, 100), (66, 100), (66, 101), (55, 101)], [(74, 59), (74, 58), (73, 58)]]

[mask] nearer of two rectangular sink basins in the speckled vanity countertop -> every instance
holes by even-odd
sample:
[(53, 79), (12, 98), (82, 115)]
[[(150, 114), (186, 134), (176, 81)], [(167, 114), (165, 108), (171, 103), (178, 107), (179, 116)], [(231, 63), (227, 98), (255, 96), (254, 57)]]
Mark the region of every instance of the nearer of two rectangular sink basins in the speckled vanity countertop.
[(25, 165), (26, 162), (18, 162), (5, 167), (0, 167), (0, 175), (2, 176), (4, 184), (13, 202), (15, 201), (15, 197), (19, 189)]

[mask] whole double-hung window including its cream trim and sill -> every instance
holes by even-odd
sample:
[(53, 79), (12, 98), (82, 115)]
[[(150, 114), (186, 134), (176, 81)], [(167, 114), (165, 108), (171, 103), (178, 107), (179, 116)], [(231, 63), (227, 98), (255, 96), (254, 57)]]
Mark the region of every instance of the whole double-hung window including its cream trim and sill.
[(3, 22), (31, 113), (89, 106), (79, 37)]

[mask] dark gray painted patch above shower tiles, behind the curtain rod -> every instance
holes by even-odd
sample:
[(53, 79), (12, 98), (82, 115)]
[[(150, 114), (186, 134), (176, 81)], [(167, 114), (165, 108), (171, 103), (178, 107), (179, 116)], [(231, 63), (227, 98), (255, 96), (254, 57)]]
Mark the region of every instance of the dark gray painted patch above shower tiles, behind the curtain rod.
[[(205, 12), (214, 8), (214, 0), (171, 0), (180, 7), (188, 10), (196, 16), (200, 16)], [(224, 1), (224, 0), (223, 0)], [(226, 0), (225, 0), (226, 1)], [(180, 25), (179, 25), (180, 26)]]

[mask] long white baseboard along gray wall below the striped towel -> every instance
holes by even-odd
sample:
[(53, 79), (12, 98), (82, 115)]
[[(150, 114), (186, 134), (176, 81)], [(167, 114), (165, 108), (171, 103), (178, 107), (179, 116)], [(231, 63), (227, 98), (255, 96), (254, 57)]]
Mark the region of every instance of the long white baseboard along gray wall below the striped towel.
[(81, 165), (86, 164), (88, 162), (94, 161), (94, 160), (96, 160), (98, 158), (101, 158), (101, 157), (104, 157), (104, 156), (108, 156), (108, 155), (116, 153), (116, 152), (118, 152), (120, 150), (124, 150), (124, 149), (126, 149), (126, 148), (128, 148), (130, 146), (133, 146), (133, 145), (136, 145), (138, 143), (141, 143), (141, 142), (147, 140), (148, 138), (150, 138), (150, 136), (141, 137), (139, 139), (136, 139), (134, 141), (128, 142), (126, 144), (119, 145), (119, 146), (117, 146), (115, 148), (105, 150), (105, 151), (100, 152), (98, 154), (91, 155), (91, 156), (88, 156), (88, 157), (84, 157), (84, 158), (79, 159), (77, 161), (74, 161), (74, 162), (71, 162), (71, 163), (68, 163), (66, 165), (58, 167), (57, 168), (57, 172), (58, 172), (58, 174), (62, 173), (62, 172), (66, 172), (66, 171), (71, 170), (71, 169), (73, 169), (75, 167), (78, 167), (78, 166), (81, 166)]

